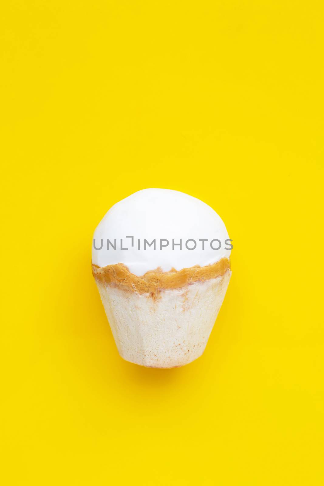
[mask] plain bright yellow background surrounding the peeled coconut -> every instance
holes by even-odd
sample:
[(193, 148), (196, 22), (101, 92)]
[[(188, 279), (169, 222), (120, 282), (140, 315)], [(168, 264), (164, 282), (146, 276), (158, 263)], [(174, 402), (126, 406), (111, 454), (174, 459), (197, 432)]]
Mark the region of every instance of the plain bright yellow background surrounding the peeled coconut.
[[(3, 484), (323, 484), (323, 2), (1, 10)], [(234, 240), (179, 369), (119, 357), (90, 270), (148, 187)]]

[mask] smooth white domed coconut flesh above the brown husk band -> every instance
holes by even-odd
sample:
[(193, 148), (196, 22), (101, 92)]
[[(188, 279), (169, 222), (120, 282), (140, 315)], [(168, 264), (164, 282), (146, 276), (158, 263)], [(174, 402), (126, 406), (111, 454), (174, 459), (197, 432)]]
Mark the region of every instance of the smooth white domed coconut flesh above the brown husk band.
[(92, 263), (124, 263), (137, 276), (157, 267), (168, 272), (172, 267), (205, 266), (231, 253), (226, 227), (214, 209), (170, 189), (143, 189), (119, 201), (105, 214), (93, 239)]

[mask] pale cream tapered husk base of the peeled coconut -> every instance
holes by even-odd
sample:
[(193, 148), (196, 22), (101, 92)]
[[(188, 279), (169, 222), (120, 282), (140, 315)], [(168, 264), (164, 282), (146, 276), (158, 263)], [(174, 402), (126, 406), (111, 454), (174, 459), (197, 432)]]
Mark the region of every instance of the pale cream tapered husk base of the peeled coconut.
[(173, 368), (199, 358), (206, 347), (231, 278), (163, 290), (156, 299), (96, 284), (120, 356), (151, 368)]

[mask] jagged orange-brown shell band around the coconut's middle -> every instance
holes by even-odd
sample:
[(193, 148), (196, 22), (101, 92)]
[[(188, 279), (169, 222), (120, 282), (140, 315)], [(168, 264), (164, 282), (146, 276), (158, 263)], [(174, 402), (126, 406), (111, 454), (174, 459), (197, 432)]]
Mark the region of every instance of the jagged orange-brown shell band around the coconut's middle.
[(123, 263), (107, 265), (106, 267), (98, 267), (92, 264), (92, 273), (97, 281), (105, 285), (119, 287), (138, 294), (151, 294), (152, 296), (156, 296), (161, 290), (180, 289), (194, 282), (221, 277), (230, 269), (230, 260), (222, 258), (213, 265), (205, 267), (195, 265), (179, 271), (172, 268), (170, 272), (162, 272), (161, 268), (157, 268), (138, 277), (132, 274)]

